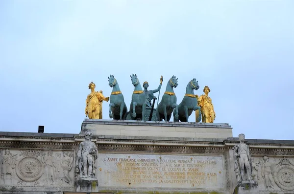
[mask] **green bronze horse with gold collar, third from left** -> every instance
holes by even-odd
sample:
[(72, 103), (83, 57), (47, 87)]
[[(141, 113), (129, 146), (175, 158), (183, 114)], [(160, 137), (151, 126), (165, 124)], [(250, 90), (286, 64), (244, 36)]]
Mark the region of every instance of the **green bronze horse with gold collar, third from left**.
[(158, 121), (170, 121), (172, 116), (172, 111), (174, 111), (174, 121), (178, 120), (178, 105), (176, 104), (176, 96), (173, 92), (173, 87), (178, 85), (177, 78), (172, 76), (168, 81), (166, 91), (164, 92), (161, 102), (156, 108), (156, 116)]

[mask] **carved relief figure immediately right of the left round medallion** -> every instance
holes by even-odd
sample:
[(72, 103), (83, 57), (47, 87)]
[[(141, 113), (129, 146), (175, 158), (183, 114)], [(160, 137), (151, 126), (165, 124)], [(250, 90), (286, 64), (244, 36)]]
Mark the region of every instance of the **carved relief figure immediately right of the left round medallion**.
[(52, 151), (49, 150), (48, 154), (46, 153), (43, 154), (42, 156), (42, 163), (44, 164), (44, 173), (46, 174), (46, 181), (47, 184), (54, 184), (57, 178), (56, 174), (56, 165), (55, 165), (55, 158), (52, 155)]

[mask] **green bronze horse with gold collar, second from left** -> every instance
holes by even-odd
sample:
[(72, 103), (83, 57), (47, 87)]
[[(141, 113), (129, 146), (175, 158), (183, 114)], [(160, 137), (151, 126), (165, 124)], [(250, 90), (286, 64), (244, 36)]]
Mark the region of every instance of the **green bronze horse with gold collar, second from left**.
[(146, 109), (146, 95), (142, 90), (141, 84), (137, 75), (133, 74), (130, 76), (134, 91), (132, 94), (132, 102), (130, 105), (130, 115), (132, 120), (145, 120), (145, 109)]

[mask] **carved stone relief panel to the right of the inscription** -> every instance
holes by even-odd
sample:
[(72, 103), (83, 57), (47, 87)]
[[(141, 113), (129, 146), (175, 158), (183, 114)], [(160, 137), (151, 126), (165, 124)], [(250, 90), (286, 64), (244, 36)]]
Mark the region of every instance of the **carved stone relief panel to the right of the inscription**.
[(294, 158), (252, 158), (252, 177), (259, 190), (294, 191)]

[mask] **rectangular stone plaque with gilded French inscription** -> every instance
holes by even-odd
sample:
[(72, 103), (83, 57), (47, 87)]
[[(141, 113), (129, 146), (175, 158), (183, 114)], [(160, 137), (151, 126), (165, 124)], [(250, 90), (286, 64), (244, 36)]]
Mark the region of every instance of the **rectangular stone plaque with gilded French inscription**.
[(222, 156), (99, 153), (99, 187), (225, 190)]

